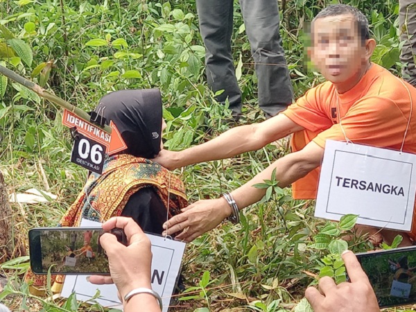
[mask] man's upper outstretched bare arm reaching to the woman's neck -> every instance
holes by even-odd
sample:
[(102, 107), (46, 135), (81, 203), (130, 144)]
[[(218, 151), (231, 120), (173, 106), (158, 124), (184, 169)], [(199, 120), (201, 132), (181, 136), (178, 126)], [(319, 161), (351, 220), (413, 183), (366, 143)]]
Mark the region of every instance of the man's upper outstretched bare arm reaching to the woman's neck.
[(165, 168), (173, 170), (190, 164), (234, 157), (251, 150), (258, 150), (272, 141), (304, 129), (284, 114), (262, 123), (232, 128), (204, 144), (179, 152), (161, 150), (154, 159)]

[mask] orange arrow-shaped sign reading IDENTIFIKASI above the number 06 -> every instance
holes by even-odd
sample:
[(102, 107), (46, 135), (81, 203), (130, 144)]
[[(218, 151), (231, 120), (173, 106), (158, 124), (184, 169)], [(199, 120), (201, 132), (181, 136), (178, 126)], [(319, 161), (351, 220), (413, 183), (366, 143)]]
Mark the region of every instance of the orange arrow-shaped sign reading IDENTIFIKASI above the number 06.
[(98, 125), (85, 121), (69, 110), (64, 110), (62, 124), (69, 128), (76, 128), (76, 130), (85, 135), (85, 137), (89, 137), (89, 139), (105, 146), (105, 153), (108, 155), (112, 155), (127, 148), (119, 130), (112, 121), (110, 121), (110, 128), (112, 129), (112, 133), (110, 134), (98, 127)]

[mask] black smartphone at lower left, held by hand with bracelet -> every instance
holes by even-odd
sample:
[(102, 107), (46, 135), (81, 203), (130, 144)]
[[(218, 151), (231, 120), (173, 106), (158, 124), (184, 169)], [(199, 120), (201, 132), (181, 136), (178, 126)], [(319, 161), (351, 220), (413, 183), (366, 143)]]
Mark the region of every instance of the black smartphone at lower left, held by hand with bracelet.
[[(123, 229), (112, 229), (123, 245)], [(101, 247), (101, 227), (39, 227), (29, 231), (31, 268), (35, 274), (108, 275), (107, 255)]]

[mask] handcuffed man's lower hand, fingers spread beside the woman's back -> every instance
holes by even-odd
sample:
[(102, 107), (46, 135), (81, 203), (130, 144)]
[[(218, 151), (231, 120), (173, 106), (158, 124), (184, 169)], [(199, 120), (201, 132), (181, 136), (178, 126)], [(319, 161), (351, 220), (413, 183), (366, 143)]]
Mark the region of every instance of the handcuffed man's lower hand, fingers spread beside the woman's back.
[(232, 214), (231, 207), (224, 198), (198, 200), (182, 211), (182, 214), (178, 214), (164, 223), (165, 230), (162, 235), (180, 232), (175, 239), (188, 243), (210, 229), (214, 229)]

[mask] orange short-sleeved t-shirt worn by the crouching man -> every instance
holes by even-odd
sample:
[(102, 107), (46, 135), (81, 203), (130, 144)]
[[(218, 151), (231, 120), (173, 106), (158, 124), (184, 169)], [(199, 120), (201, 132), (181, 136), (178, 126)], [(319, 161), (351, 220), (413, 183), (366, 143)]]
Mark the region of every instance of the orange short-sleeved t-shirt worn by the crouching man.
[[(416, 153), (416, 88), (373, 63), (349, 91), (337, 95), (331, 82), (322, 83), (282, 114), (305, 128), (293, 136), (294, 151), (309, 141), (324, 148), (327, 139), (345, 141), (345, 136), (357, 144), (400, 150), (410, 112), (403, 150)], [(318, 176), (319, 168), (293, 183), (293, 197), (315, 198)]]

